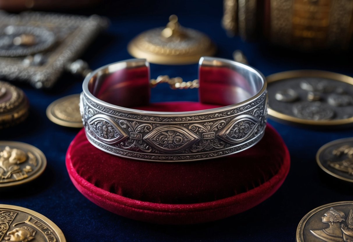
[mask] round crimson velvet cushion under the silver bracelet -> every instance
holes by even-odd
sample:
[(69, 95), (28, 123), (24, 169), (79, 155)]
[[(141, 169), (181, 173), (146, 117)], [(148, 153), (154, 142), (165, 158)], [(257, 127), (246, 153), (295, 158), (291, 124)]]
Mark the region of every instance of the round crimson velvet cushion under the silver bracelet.
[[(214, 108), (195, 102), (159, 103), (144, 110)], [(243, 212), (271, 196), (289, 171), (289, 153), (267, 126), (263, 139), (235, 155), (196, 162), (143, 162), (107, 154), (81, 130), (70, 144), (66, 166), (89, 200), (132, 219), (163, 223), (208, 222)]]

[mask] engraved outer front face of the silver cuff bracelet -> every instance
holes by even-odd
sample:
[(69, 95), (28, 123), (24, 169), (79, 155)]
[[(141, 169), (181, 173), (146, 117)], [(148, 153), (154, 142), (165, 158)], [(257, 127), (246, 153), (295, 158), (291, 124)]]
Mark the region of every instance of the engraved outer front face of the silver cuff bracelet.
[[(123, 113), (95, 103), (83, 95), (85, 129), (92, 144), (119, 156), (153, 161), (205, 159), (246, 149), (263, 136), (266, 108), (267, 99), (263, 93), (253, 102), (230, 110), (166, 117)], [(99, 115), (109, 117), (110, 124), (113, 127), (117, 126), (122, 134), (126, 134), (126, 138), (107, 142), (99, 137), (88, 122)], [(248, 123), (252, 129), (247, 130), (245, 127), (241, 129), (247, 134), (242, 141), (230, 141), (226, 127), (244, 125), (237, 124), (240, 122), (239, 117), (244, 115), (252, 120)]]

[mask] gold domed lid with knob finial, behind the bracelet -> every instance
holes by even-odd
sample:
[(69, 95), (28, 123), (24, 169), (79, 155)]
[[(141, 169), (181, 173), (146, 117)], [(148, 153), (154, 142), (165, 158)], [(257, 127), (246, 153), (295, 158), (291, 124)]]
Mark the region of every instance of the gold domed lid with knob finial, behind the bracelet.
[(135, 37), (127, 46), (128, 52), (151, 63), (183, 65), (197, 63), (201, 56), (216, 52), (210, 38), (194, 29), (180, 26), (178, 17), (169, 17), (165, 28), (147, 30)]

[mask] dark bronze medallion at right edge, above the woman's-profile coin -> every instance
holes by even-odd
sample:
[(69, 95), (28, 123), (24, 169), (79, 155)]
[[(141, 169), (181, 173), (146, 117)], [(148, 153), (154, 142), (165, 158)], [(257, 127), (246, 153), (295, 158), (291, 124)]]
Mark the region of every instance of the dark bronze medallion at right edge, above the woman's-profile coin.
[(317, 151), (316, 162), (331, 176), (353, 182), (353, 138), (325, 144)]

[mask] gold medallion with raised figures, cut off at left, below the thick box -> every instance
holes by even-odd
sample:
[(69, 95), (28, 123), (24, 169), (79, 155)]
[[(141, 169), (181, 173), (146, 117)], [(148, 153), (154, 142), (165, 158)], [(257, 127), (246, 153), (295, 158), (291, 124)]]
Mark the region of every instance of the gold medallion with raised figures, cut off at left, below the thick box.
[(46, 157), (36, 147), (0, 141), (0, 188), (32, 181), (43, 173), (46, 165)]

